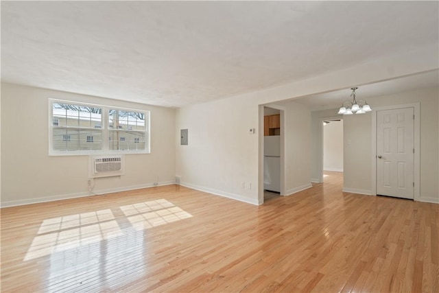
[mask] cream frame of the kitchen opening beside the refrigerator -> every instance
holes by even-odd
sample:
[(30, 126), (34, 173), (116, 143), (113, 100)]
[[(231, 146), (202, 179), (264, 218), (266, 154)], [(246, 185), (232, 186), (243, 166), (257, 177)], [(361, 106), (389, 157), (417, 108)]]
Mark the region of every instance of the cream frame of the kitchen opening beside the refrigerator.
[(281, 119), (281, 196), (285, 196), (285, 115), (286, 108), (277, 104), (259, 105), (259, 184), (258, 184), (258, 203), (263, 204), (263, 108), (273, 108), (279, 110)]

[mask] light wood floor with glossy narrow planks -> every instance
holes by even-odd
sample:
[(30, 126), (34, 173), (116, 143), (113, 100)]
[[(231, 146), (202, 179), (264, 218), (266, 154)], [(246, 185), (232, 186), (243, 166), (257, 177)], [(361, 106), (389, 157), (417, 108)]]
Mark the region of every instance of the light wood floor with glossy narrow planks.
[(439, 292), (439, 205), (170, 185), (1, 209), (2, 292)]

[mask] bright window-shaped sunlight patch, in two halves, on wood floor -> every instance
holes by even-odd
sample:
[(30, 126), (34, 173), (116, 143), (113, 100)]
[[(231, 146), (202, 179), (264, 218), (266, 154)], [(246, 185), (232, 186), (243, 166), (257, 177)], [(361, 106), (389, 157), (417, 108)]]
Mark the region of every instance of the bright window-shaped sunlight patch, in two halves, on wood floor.
[[(119, 207), (137, 231), (191, 218), (165, 199)], [(110, 209), (44, 220), (23, 261), (108, 240), (123, 234)]]

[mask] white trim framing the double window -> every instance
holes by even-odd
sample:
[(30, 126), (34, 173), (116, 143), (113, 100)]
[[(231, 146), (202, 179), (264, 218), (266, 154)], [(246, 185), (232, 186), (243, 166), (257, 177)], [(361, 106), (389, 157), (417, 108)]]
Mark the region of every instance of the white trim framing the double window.
[[(60, 103), (60, 104), (73, 104), (73, 105), (80, 105), (80, 106), (91, 106), (96, 108), (102, 108), (102, 116), (101, 116), (101, 130), (102, 130), (102, 150), (75, 150), (75, 151), (57, 151), (53, 150), (53, 130), (54, 126), (52, 125), (52, 117), (54, 116), (53, 113), (53, 104)], [(63, 99), (49, 99), (48, 103), (49, 108), (49, 115), (48, 115), (48, 125), (49, 125), (49, 156), (84, 156), (84, 155), (90, 155), (90, 154), (150, 154), (151, 153), (151, 113), (150, 110), (140, 110), (140, 109), (132, 109), (132, 108), (123, 108), (119, 106), (111, 106), (111, 105), (99, 105), (99, 104), (89, 104), (84, 102), (75, 102), (75, 101), (68, 101)], [(110, 150), (109, 146), (109, 132), (110, 129), (108, 128), (108, 112), (109, 110), (123, 110), (123, 111), (132, 111), (132, 112), (139, 112), (143, 113), (145, 115), (145, 150)], [(58, 122), (59, 125), (59, 122)], [(94, 128), (99, 129), (99, 128)]]

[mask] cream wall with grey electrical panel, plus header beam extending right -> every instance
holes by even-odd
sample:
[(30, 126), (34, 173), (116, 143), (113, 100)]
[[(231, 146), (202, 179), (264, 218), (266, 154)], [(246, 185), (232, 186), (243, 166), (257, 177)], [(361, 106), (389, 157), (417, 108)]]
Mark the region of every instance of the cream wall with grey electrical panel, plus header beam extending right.
[[(180, 108), (176, 139), (179, 141), (180, 129), (188, 128), (189, 145), (176, 144), (176, 175), (189, 187), (259, 204), (263, 190), (263, 110), (259, 115), (259, 105), (419, 73), (436, 69), (437, 64), (437, 47), (421, 47), (308, 80)], [(248, 128), (256, 128), (257, 134), (248, 134)], [(309, 149), (311, 146), (315, 148), (311, 143)], [(305, 173), (309, 176), (309, 167)], [(287, 172), (285, 184), (286, 177)], [(241, 182), (246, 183), (246, 189), (241, 188)]]

